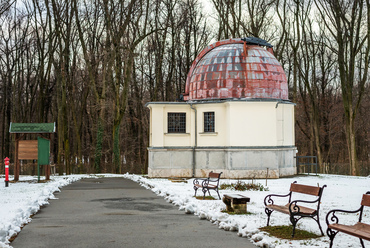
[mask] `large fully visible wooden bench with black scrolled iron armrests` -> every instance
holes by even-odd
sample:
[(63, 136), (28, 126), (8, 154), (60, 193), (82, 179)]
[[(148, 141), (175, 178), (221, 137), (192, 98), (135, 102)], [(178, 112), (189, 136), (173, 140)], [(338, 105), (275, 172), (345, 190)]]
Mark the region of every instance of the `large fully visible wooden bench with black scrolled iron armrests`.
[[(316, 223), (319, 225), (319, 229), (321, 231), (321, 235), (324, 235), (324, 232), (322, 231), (321, 225), (320, 225), (320, 219), (319, 219), (319, 210), (320, 210), (320, 201), (321, 196), (324, 187), (326, 185), (319, 187), (319, 186), (309, 186), (309, 185), (302, 185), (297, 184), (296, 181), (294, 181), (290, 185), (290, 192), (286, 195), (275, 195), (270, 194), (265, 197), (264, 203), (265, 203), (265, 213), (267, 214), (267, 226), (270, 223), (270, 216), (271, 213), (276, 210), (278, 212), (288, 214), (290, 216), (290, 222), (293, 225), (293, 233), (292, 237), (294, 237), (295, 233), (295, 227), (297, 222), (304, 218), (309, 217), (316, 221)], [(292, 193), (301, 193), (301, 194), (307, 194), (316, 196), (315, 200), (313, 201), (306, 201), (306, 200), (294, 200), (292, 201)], [(276, 205), (274, 204), (273, 197), (289, 197), (288, 203), (286, 205)], [(312, 205), (312, 208), (308, 208), (305, 206), (302, 206), (301, 204), (308, 204)], [(298, 205), (299, 204), (299, 205)]]

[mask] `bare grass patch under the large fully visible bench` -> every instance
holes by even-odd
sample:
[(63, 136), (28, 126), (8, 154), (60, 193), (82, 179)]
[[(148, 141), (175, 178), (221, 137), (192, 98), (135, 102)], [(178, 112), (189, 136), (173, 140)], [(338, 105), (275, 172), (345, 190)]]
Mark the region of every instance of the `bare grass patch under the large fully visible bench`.
[(316, 239), (321, 237), (312, 232), (296, 228), (294, 238), (292, 238), (293, 226), (265, 226), (261, 227), (260, 230), (265, 231), (279, 239), (301, 240), (301, 239)]

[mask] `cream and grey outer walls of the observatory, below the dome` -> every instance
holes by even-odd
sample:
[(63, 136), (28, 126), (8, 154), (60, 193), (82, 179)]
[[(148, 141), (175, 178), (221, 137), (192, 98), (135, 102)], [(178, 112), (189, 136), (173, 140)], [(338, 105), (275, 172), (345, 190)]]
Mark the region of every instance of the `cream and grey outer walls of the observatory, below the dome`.
[[(149, 176), (192, 177), (195, 111), (189, 103), (148, 103)], [(194, 103), (197, 109), (195, 176), (222, 171), (227, 178), (296, 173), (294, 104), (278, 101)], [(203, 113), (215, 112), (215, 133), (204, 133)], [(186, 133), (167, 133), (167, 113), (186, 113)]]

